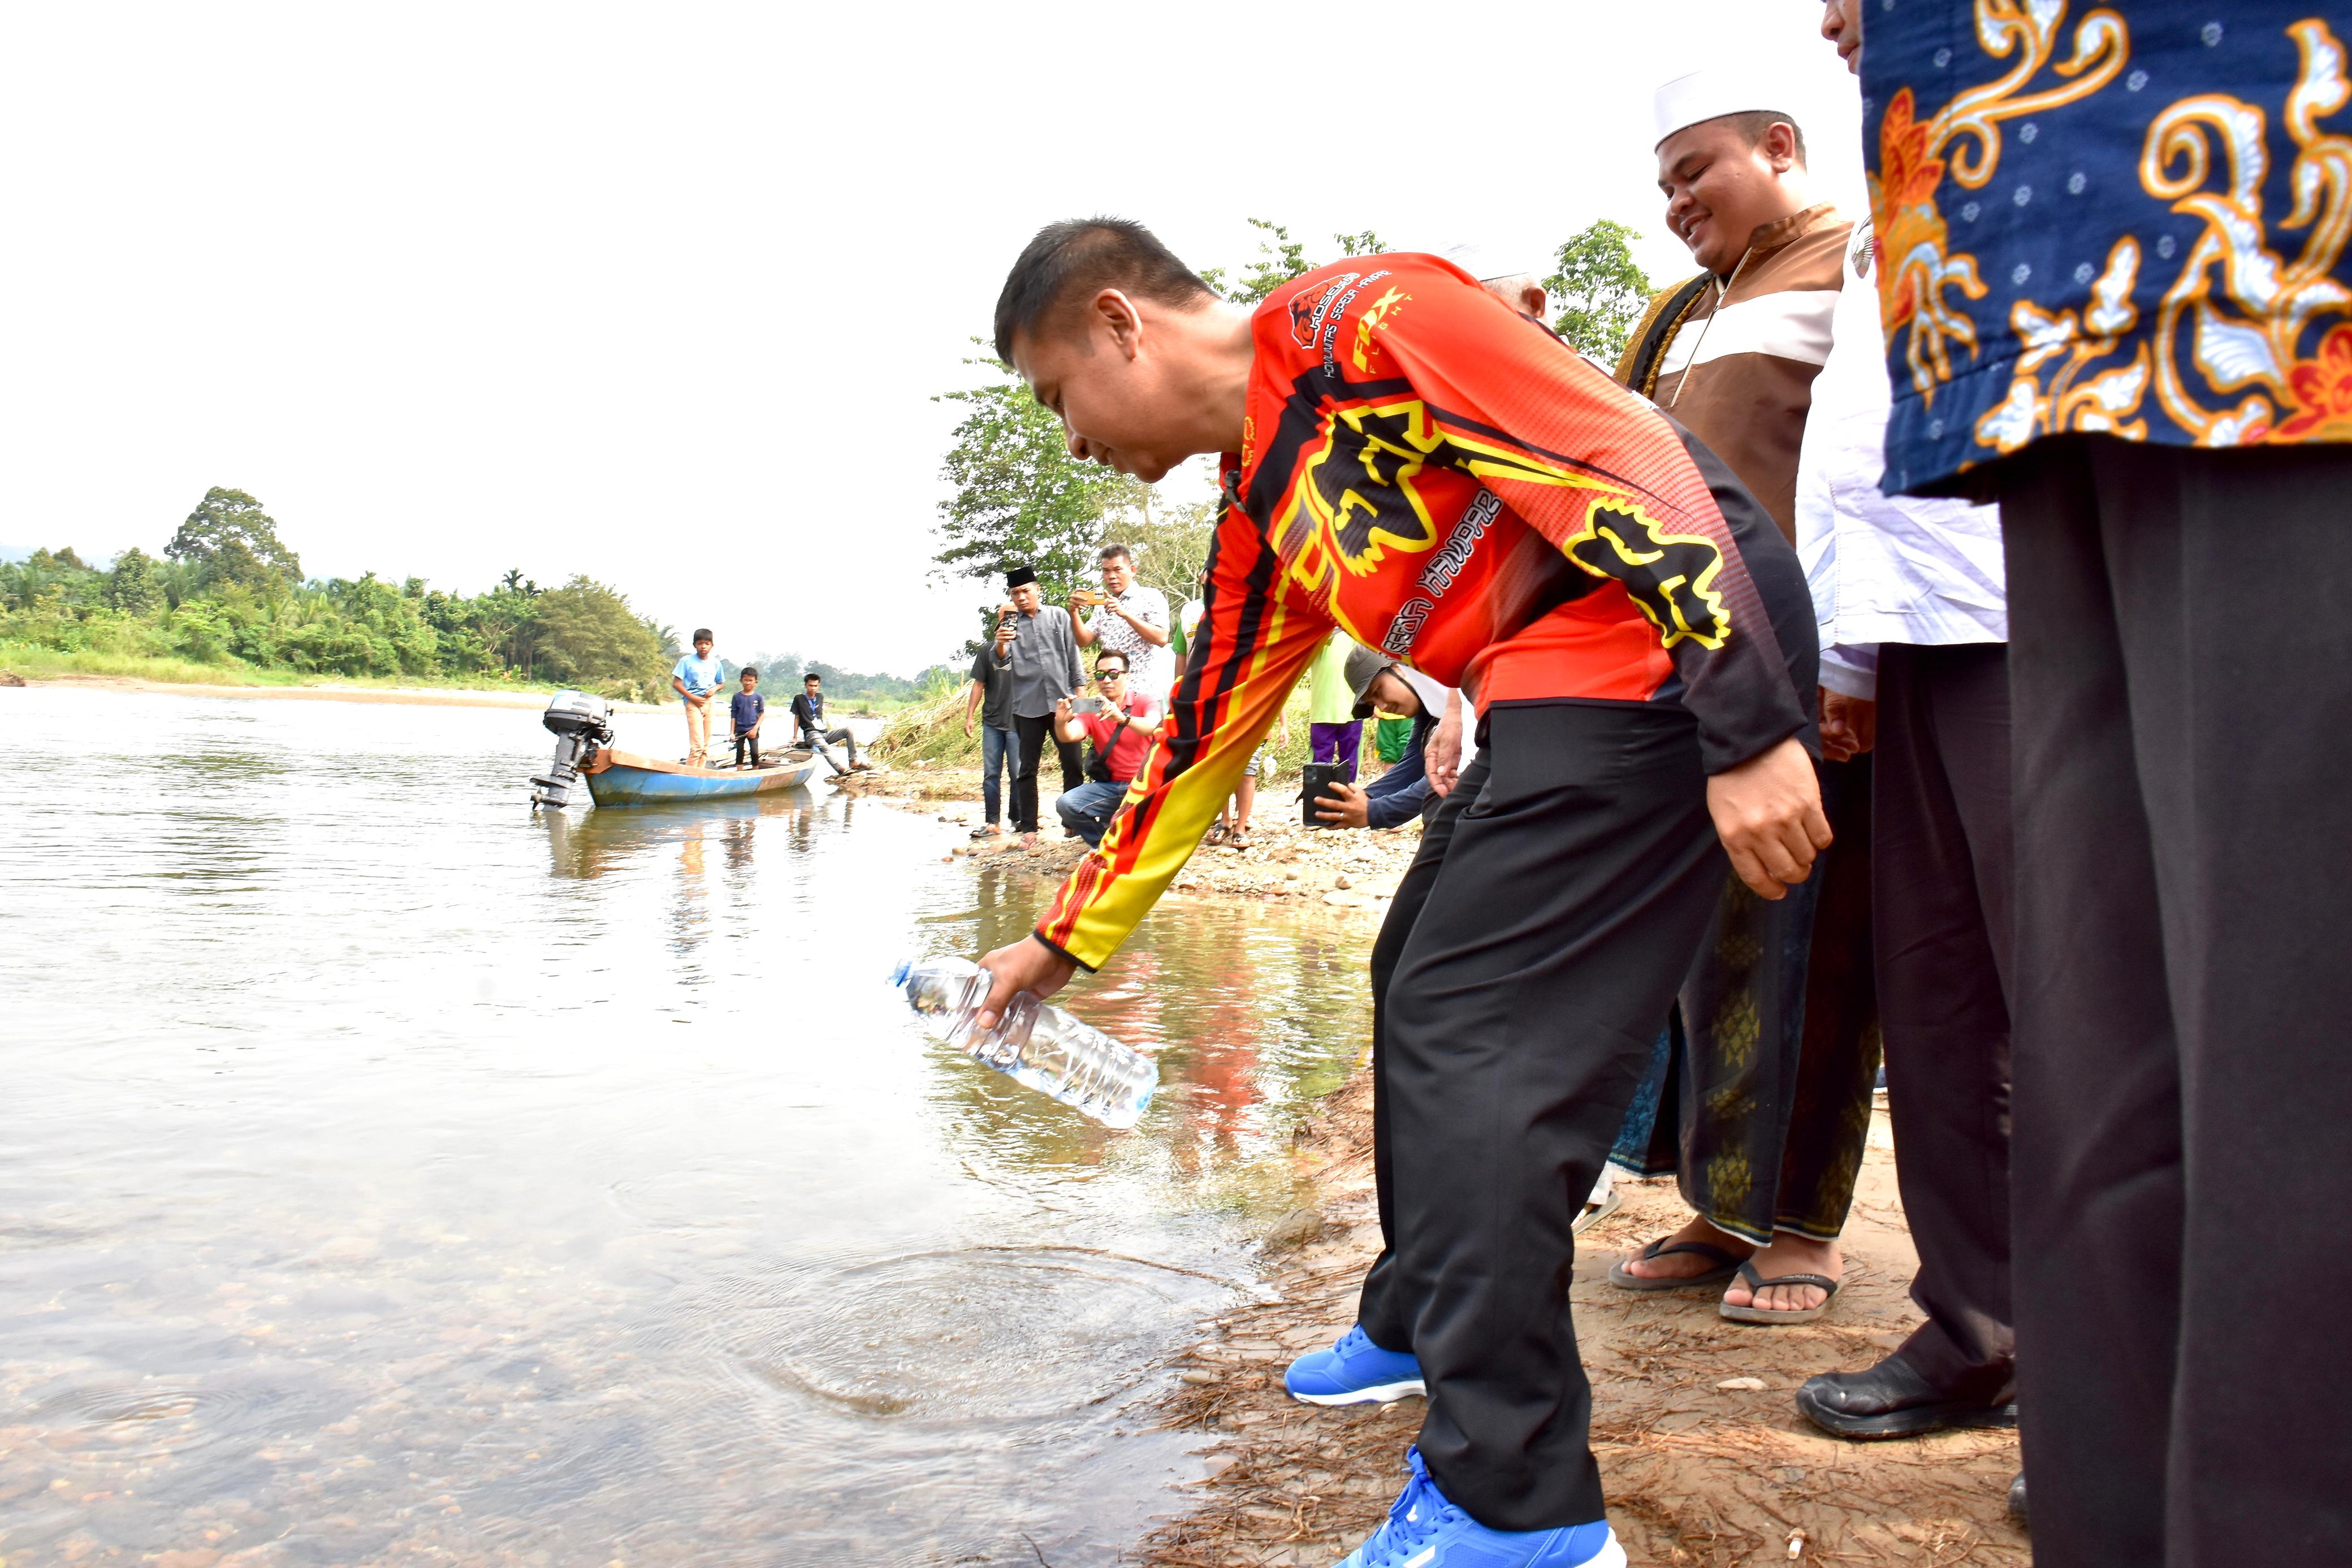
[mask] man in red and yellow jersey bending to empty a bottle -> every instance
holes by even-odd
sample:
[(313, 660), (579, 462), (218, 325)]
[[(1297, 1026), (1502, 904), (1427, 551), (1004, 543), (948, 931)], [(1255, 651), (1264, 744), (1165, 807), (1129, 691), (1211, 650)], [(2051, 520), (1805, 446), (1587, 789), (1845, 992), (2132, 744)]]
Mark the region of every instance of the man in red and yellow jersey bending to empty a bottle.
[[(1207, 611), (1127, 804), (981, 1023), (1103, 964), (1192, 853), (1331, 628), (1461, 686), (1477, 799), (1404, 943), (1397, 1227), (1376, 1356), (1430, 1394), (1406, 1497), (1350, 1561), (1623, 1563), (1569, 1324), (1590, 1190), (1724, 853), (1785, 896), (1830, 842), (1813, 607), (1731, 473), (1437, 256), (1218, 301), (1148, 230), (1056, 223), (997, 350), (1070, 451), (1152, 482), (1221, 454)], [(1399, 1556), (1399, 1561), (1402, 1561)]]

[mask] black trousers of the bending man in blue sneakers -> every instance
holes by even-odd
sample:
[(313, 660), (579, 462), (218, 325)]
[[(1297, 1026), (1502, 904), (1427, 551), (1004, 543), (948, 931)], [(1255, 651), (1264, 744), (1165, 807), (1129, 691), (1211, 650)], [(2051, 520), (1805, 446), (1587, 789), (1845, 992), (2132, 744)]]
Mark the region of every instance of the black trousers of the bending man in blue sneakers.
[(1381, 999), (1392, 1255), (1367, 1333), (1421, 1359), (1446, 1497), (1538, 1530), (1602, 1516), (1569, 1227), (1724, 853), (1679, 708), (1496, 708), (1486, 736)]

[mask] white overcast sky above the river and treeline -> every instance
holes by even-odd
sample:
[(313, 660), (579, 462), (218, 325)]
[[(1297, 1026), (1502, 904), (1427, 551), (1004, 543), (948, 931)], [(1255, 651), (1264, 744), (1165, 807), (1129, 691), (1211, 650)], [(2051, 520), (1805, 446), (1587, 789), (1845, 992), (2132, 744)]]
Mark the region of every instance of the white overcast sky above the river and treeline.
[[(1181, 26), (1171, 19), (1183, 19)], [(1689, 275), (1649, 94), (1745, 61), (1860, 205), (1820, 0), (14, 5), (0, 545), (160, 550), (212, 484), (313, 576), (614, 583), (722, 651), (910, 675), (1004, 268), (1136, 216)], [(1169, 482), (1195, 498), (1197, 475)]]

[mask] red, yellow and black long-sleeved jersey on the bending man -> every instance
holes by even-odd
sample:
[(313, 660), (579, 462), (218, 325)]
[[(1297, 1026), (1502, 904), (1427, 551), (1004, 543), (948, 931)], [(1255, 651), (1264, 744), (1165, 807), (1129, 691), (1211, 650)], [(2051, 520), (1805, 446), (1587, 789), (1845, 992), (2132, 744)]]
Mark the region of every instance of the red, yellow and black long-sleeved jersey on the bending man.
[(1708, 771), (1809, 729), (1813, 607), (1771, 517), (1468, 273), (1319, 268), (1258, 306), (1251, 339), (1192, 661), (1042, 940), (1089, 969), (1127, 940), (1334, 625), (1479, 712), (1679, 703)]

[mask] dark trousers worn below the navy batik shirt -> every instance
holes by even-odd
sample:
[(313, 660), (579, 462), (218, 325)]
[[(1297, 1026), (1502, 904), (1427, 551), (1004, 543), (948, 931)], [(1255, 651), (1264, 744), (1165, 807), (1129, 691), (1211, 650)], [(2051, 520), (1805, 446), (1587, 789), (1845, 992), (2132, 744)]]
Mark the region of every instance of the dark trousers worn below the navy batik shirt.
[(2039, 442), (2002, 527), (2034, 1561), (2352, 1563), (2352, 449)]

